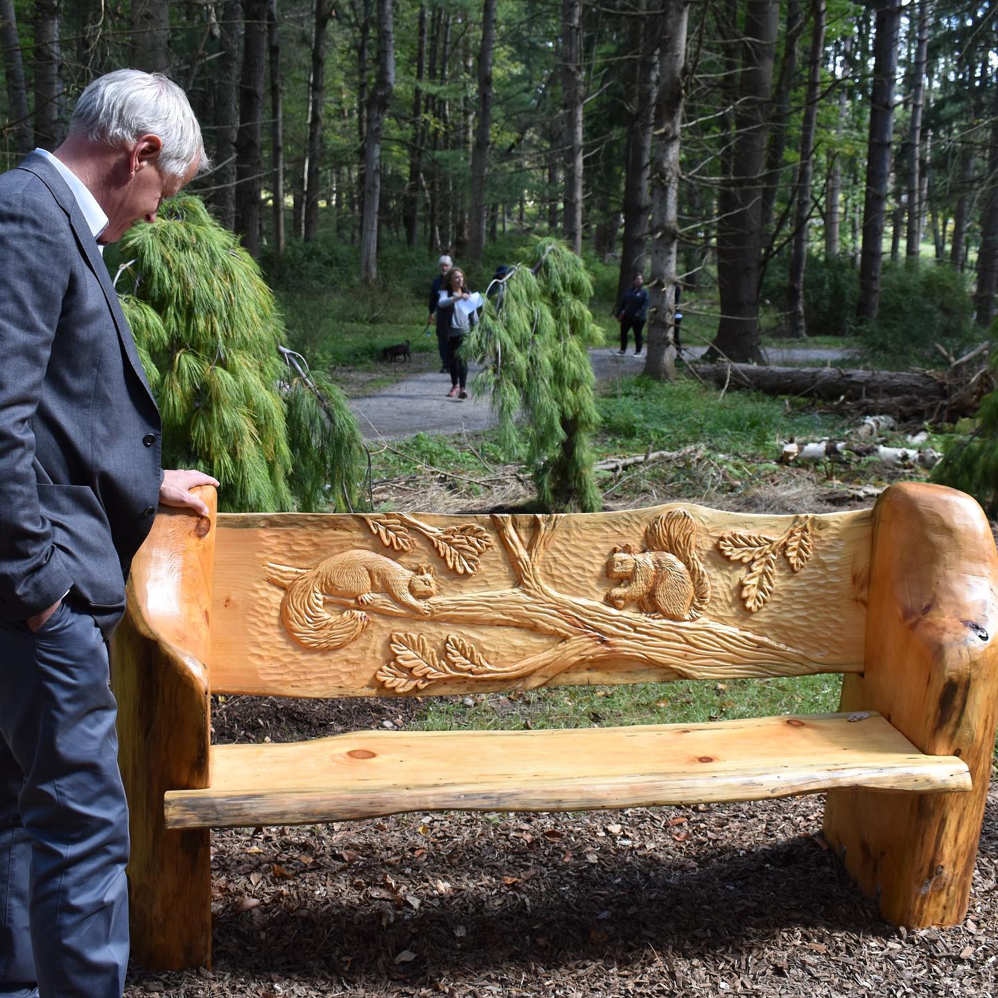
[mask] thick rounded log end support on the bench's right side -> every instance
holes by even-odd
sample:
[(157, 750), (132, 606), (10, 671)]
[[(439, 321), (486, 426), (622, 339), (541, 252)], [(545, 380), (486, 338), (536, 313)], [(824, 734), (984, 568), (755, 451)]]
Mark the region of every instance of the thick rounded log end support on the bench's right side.
[(866, 669), (843, 712), (877, 711), (916, 748), (958, 755), (973, 789), (835, 790), (824, 834), (889, 922), (964, 918), (987, 796), (998, 703), (998, 595), (990, 527), (968, 496), (888, 489), (873, 511)]

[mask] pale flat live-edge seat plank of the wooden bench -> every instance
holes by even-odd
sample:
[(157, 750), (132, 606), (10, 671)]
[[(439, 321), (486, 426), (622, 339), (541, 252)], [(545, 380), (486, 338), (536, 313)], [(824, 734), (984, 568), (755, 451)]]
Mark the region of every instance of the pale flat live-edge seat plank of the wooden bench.
[(530, 732), (354, 732), (212, 747), (212, 786), (166, 794), (171, 828), (308, 824), (402, 811), (581, 810), (829, 788), (968, 790), (877, 714)]

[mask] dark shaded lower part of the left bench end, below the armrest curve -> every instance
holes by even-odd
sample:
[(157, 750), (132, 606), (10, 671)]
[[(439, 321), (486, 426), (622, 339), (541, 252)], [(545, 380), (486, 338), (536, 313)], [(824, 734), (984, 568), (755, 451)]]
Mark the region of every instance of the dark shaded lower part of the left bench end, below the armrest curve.
[(129, 617), (115, 632), (111, 661), (132, 835), (132, 956), (149, 970), (209, 967), (210, 832), (170, 830), (163, 813), (166, 790), (209, 785), (208, 692)]

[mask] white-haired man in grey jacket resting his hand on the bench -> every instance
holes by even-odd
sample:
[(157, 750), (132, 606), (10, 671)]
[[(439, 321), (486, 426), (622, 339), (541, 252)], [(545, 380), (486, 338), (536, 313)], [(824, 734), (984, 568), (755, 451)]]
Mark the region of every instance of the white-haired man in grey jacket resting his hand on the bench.
[(128, 810), (105, 642), (157, 506), (161, 424), (101, 247), (206, 157), (184, 92), (108, 74), (0, 177), (0, 996), (121, 998)]

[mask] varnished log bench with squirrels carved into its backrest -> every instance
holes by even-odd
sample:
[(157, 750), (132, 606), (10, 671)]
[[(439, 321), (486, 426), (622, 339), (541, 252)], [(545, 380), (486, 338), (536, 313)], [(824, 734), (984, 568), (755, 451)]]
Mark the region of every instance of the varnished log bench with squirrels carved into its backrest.
[[(205, 490), (214, 509), (215, 495)], [(209, 828), (827, 791), (885, 918), (968, 904), (998, 704), (996, 553), (967, 496), (873, 511), (688, 504), (569, 516), (163, 513), (112, 644), (133, 953), (211, 960)], [(213, 746), (210, 694), (468, 694), (843, 673), (840, 714)]]

